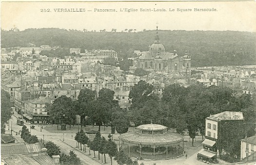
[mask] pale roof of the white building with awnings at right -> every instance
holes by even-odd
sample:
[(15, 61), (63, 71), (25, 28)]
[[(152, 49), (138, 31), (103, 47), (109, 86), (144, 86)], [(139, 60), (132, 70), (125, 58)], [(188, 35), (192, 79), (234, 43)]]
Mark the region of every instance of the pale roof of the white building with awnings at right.
[(215, 115), (211, 115), (207, 117), (206, 119), (209, 120), (243, 120), (243, 113), (242, 112), (231, 112), (231, 111), (225, 111), (221, 112)]

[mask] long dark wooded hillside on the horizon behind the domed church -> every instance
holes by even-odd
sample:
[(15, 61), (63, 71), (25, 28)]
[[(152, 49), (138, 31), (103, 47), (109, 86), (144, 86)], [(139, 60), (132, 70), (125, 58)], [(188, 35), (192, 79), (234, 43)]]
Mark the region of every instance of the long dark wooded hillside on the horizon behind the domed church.
[[(127, 32), (91, 32), (78, 30), (27, 29), (1, 30), (1, 47), (28, 47), (32, 44), (82, 48), (82, 50), (110, 49), (118, 57), (133, 56), (133, 50), (147, 51), (154, 42), (156, 30)], [(256, 63), (256, 33), (239, 31), (185, 31), (159, 30), (165, 51), (185, 50), (191, 56), (192, 66), (253, 65)], [(37, 37), (35, 37), (37, 36)], [(54, 56), (60, 56), (56, 52)], [(63, 53), (63, 52), (62, 52)], [(64, 52), (65, 53), (65, 52)]]

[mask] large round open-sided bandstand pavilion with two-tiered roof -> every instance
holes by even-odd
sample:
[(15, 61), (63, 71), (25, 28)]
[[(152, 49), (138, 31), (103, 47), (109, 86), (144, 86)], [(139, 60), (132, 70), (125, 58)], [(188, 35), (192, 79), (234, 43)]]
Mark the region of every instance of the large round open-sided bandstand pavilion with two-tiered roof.
[(183, 135), (167, 132), (159, 124), (144, 124), (119, 136), (120, 150), (130, 157), (169, 159), (183, 155)]

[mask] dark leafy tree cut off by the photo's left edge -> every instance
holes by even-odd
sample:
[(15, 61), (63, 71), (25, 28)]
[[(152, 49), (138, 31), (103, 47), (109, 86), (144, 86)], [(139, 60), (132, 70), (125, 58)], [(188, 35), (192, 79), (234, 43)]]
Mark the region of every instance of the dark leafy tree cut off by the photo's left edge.
[(10, 95), (1, 90), (1, 134), (5, 133), (5, 124), (12, 118)]

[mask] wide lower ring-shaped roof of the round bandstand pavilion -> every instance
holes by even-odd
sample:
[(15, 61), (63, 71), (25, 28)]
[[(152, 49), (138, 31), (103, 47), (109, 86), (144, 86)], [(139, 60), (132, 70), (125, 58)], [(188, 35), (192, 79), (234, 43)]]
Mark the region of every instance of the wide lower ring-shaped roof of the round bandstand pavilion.
[(136, 144), (170, 144), (183, 140), (183, 136), (176, 133), (167, 132), (162, 135), (145, 135), (136, 132), (121, 134), (119, 138), (123, 141)]

